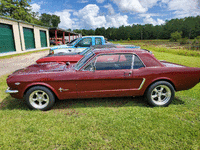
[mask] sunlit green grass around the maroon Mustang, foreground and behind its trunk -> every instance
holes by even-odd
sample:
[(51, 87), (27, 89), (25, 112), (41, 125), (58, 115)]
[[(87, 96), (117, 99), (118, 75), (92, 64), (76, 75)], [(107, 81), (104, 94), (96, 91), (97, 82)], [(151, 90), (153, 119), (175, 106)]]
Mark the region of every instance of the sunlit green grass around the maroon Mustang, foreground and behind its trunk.
[[(200, 57), (153, 51), (160, 60), (200, 67)], [(5, 94), (0, 78), (0, 149), (200, 149), (200, 84), (176, 93), (169, 107), (142, 97), (58, 101), (31, 111)]]

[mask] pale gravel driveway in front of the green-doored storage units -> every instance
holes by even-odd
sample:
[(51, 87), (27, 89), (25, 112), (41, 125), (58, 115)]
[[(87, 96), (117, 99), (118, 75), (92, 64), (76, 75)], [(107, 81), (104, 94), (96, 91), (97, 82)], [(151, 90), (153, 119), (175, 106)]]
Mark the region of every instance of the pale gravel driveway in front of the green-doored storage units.
[(49, 51), (35, 52), (31, 54), (24, 54), (21, 56), (15, 56), (8, 59), (0, 59), (0, 76), (12, 73), (17, 69), (24, 68), (41, 57), (48, 55)]

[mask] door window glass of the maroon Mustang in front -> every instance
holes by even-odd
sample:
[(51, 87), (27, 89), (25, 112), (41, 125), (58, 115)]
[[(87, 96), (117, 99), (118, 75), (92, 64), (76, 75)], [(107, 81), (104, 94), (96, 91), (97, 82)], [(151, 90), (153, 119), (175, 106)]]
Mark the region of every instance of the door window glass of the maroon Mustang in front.
[(96, 70), (131, 69), (132, 54), (101, 55), (94, 64)]

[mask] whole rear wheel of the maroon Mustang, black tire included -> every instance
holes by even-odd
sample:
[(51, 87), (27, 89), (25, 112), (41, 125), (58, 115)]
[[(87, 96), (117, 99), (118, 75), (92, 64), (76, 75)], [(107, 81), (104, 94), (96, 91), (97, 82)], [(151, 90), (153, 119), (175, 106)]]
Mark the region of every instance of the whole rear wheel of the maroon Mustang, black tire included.
[(150, 85), (145, 93), (151, 106), (167, 107), (174, 99), (174, 87), (166, 81), (158, 81)]

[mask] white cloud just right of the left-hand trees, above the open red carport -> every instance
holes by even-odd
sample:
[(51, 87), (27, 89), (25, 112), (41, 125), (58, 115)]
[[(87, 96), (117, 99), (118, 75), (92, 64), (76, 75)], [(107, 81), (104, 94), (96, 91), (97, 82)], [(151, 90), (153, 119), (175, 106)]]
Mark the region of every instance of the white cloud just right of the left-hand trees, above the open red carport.
[(71, 10), (63, 10), (61, 12), (55, 12), (54, 14), (57, 16), (60, 16), (60, 24), (59, 27), (64, 28), (64, 29), (69, 29), (69, 28), (74, 28), (75, 26), (75, 21), (71, 19)]

